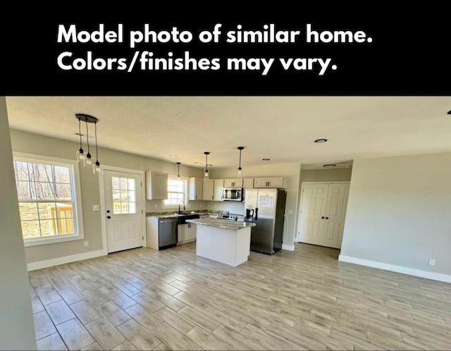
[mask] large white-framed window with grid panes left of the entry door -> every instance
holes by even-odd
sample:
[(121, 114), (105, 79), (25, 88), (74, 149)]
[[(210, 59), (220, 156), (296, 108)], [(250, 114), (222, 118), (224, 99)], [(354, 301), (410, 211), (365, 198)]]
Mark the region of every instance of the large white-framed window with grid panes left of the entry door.
[(15, 153), (14, 173), (25, 246), (83, 238), (76, 161)]

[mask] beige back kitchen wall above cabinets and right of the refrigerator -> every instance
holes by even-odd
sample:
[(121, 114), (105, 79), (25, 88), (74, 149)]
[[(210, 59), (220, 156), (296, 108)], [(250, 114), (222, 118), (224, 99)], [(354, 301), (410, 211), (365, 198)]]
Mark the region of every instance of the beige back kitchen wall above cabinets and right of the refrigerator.
[[(301, 164), (299, 163), (285, 163), (285, 164), (264, 164), (261, 166), (247, 166), (243, 167), (243, 178), (257, 178), (257, 177), (271, 177), (284, 176), (286, 178), (287, 202), (286, 202), (286, 222), (285, 230), (286, 236), (283, 240), (284, 245), (293, 245), (295, 233), (297, 230), (297, 207), (299, 204), (299, 173), (301, 171)], [(210, 178), (236, 178), (236, 168), (211, 168)], [(230, 211), (240, 211), (244, 213), (244, 204), (218, 204), (218, 202), (207, 202), (207, 207), (211, 208), (217, 205), (214, 209), (231, 209)], [(288, 211), (292, 210), (292, 214)]]

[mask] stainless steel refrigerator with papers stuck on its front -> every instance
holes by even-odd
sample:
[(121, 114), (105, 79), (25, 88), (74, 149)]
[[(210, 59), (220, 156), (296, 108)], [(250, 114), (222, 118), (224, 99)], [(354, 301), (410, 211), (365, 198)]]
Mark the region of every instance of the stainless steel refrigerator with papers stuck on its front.
[(285, 189), (246, 189), (245, 222), (251, 228), (251, 251), (273, 254), (282, 249), (285, 223)]

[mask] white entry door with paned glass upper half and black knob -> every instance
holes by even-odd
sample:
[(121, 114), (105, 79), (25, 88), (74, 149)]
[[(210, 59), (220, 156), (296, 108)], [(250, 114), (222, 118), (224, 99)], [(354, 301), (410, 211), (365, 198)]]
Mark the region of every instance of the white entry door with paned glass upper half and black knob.
[(108, 253), (142, 247), (142, 176), (105, 170), (104, 187)]

